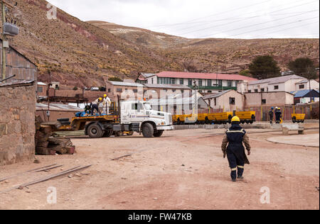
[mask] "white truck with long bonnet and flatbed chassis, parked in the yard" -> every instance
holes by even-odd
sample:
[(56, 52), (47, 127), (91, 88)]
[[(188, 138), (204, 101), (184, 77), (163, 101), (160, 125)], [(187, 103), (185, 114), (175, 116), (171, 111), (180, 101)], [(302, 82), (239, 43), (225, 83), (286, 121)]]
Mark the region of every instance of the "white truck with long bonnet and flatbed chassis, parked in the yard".
[[(85, 134), (90, 138), (110, 137), (114, 132), (137, 132), (145, 138), (159, 138), (174, 130), (171, 113), (154, 111), (147, 101), (121, 101), (117, 116), (86, 118)], [(94, 119), (88, 121), (88, 119)]]

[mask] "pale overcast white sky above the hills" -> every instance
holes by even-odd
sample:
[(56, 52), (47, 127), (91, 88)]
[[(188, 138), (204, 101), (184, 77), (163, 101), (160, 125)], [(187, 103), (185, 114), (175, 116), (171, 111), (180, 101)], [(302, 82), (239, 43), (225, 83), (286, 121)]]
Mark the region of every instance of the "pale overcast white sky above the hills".
[(82, 21), (186, 38), (319, 38), (319, 0), (49, 0)]

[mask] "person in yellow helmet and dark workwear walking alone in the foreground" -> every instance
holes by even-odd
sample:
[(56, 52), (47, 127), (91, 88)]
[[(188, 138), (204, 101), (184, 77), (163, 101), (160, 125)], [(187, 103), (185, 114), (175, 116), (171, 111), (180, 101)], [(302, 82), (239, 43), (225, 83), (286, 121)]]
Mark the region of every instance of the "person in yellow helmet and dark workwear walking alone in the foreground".
[(245, 147), (242, 142), (245, 143), (245, 147), (247, 148), (247, 155), (250, 155), (251, 147), (249, 137), (245, 130), (240, 126), (240, 118), (234, 116), (231, 120), (231, 128), (226, 131), (221, 145), (223, 157), (228, 157), (231, 169), (231, 179), (233, 182), (237, 181), (237, 169), (238, 179), (243, 179), (245, 164), (250, 164), (247, 155), (245, 155)]

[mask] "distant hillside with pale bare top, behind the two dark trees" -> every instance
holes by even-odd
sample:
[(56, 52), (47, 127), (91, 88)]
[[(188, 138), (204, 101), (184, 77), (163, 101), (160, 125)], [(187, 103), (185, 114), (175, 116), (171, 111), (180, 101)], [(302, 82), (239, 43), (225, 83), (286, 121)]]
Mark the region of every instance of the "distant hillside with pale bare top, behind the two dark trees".
[(319, 63), (319, 39), (186, 39), (102, 21), (88, 23), (136, 45), (161, 50), (170, 62), (198, 72), (240, 72), (254, 57), (267, 54), (274, 55), (282, 69), (297, 57)]

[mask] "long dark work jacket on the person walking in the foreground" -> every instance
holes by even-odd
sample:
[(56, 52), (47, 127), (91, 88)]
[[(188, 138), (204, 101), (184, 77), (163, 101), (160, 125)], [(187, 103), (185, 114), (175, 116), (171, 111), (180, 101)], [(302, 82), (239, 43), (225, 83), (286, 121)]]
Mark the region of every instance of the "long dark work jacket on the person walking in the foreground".
[(231, 128), (227, 130), (228, 142), (227, 153), (233, 153), (237, 159), (244, 162), (245, 164), (250, 164), (247, 155), (245, 155), (245, 147), (243, 146), (243, 136), (246, 132), (238, 124), (233, 124)]

